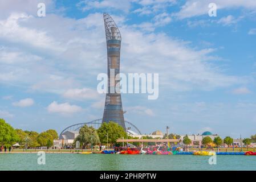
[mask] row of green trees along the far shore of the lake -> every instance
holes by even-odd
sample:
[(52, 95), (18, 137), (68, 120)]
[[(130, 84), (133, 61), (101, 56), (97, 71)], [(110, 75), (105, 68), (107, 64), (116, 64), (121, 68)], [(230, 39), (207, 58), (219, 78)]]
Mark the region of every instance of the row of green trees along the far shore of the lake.
[[(43, 131), (42, 133), (37, 133), (36, 131), (23, 131), (22, 129), (14, 129), (11, 125), (6, 123), (4, 119), (0, 119), (0, 146), (5, 145), (9, 147), (18, 142), (21, 146), (24, 146), (26, 148), (35, 148), (42, 146), (51, 147), (53, 146), (53, 140), (58, 138), (58, 133), (52, 129)], [(76, 141), (79, 141), (80, 146), (82, 147), (86, 147), (88, 144), (95, 145), (99, 143), (109, 143), (118, 146), (120, 145), (120, 143), (116, 143), (116, 140), (119, 138), (136, 139), (136, 137), (128, 136), (127, 133), (124, 131), (123, 127), (115, 122), (104, 122), (97, 130), (92, 126), (88, 127), (87, 125), (84, 125), (80, 128), (79, 135), (74, 140), (74, 145)], [(166, 134), (164, 135), (163, 139), (165, 138), (167, 138)], [(168, 138), (180, 139), (180, 135), (169, 134)], [(153, 138), (150, 136), (144, 136), (143, 139)], [(189, 139), (188, 135), (186, 135), (182, 141), (187, 146), (192, 142)], [(252, 135), (251, 138), (243, 139), (242, 142), (248, 147), (251, 142), (256, 142), (256, 134)], [(204, 144), (204, 146), (208, 146), (211, 143), (216, 144), (217, 147), (219, 147), (222, 143), (230, 146), (233, 143), (233, 138), (225, 137), (222, 140), (221, 137), (215, 137), (212, 140), (212, 138), (210, 137), (204, 137), (202, 139), (202, 144)], [(139, 142), (132, 142), (132, 144), (134, 144), (135, 146), (139, 146)], [(155, 142), (145, 142), (144, 145), (155, 145)]]

